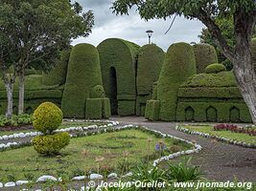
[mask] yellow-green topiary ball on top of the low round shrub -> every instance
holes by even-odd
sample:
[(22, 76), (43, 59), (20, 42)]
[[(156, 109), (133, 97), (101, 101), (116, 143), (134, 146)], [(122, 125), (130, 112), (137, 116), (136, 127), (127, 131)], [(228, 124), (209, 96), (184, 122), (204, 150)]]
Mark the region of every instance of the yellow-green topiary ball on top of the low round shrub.
[(58, 126), (62, 122), (62, 118), (62, 112), (57, 105), (51, 102), (44, 102), (35, 110), (33, 125), (35, 130), (44, 134), (51, 134), (58, 129)]

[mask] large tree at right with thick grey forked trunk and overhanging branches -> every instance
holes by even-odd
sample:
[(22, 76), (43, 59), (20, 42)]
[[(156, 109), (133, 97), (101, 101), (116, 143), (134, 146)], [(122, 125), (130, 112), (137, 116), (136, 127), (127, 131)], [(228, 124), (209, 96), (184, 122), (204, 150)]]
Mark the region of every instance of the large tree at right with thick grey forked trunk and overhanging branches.
[[(233, 72), (250, 115), (256, 123), (256, 73), (251, 59), (250, 42), (256, 23), (254, 0), (116, 0), (113, 11), (128, 14), (137, 7), (142, 18), (163, 18), (177, 14), (188, 19), (200, 20), (211, 33), (215, 44), (233, 64)], [(218, 16), (229, 13), (233, 16), (234, 47), (216, 22)]]

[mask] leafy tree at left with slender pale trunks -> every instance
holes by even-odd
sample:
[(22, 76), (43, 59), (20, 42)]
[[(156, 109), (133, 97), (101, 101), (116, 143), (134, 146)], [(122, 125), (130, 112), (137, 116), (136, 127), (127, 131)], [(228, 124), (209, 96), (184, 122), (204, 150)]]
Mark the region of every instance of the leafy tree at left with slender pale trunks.
[[(59, 52), (72, 39), (87, 36), (93, 25), (92, 11), (82, 12), (79, 3), (71, 4), (69, 0), (0, 0), (0, 67), (8, 95), (8, 117), (12, 115), (16, 77), (19, 113), (23, 113), (25, 69), (51, 69)], [(8, 74), (10, 66), (14, 68), (13, 74)]]

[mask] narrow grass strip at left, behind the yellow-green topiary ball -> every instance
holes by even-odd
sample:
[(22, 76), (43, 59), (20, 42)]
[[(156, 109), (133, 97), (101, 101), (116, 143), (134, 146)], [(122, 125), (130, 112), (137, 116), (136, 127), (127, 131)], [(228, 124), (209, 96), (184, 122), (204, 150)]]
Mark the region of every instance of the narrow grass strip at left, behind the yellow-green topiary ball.
[[(77, 127), (77, 126), (82, 126), (82, 127), (86, 127), (86, 126), (90, 126), (90, 125), (105, 125), (106, 123), (104, 122), (69, 122), (69, 121), (63, 121), (61, 123), (61, 125), (58, 127), (58, 129), (64, 129), (64, 128), (68, 128), (68, 127)], [(12, 135), (12, 134), (16, 134), (16, 133), (28, 133), (28, 132), (33, 132), (35, 131), (34, 129), (30, 129), (30, 130), (13, 130), (13, 131), (0, 131), (0, 136), (5, 136), (5, 135)]]

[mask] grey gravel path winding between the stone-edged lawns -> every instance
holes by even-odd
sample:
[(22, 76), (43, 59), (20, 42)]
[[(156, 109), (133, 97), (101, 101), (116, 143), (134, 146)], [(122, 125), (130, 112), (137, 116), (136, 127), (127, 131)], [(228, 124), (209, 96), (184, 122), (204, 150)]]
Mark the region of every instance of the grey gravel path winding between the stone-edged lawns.
[(193, 156), (192, 163), (201, 166), (209, 180), (238, 180), (256, 182), (256, 149), (222, 143), (210, 138), (201, 138), (175, 130), (178, 123), (150, 122), (144, 117), (112, 117), (121, 124), (144, 125), (151, 129), (178, 138), (195, 140), (202, 151)]

